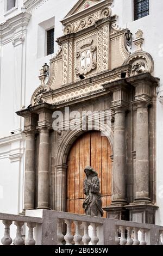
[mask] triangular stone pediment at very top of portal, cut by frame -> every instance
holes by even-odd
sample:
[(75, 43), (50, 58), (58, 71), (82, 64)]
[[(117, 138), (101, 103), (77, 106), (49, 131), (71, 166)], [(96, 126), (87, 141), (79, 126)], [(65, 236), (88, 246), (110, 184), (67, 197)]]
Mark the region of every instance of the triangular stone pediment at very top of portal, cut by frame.
[(101, 0), (79, 0), (76, 5), (74, 5), (74, 7), (68, 12), (68, 14), (65, 16), (69, 17), (73, 14), (79, 13), (79, 11), (83, 11), (86, 8), (91, 7), (94, 4), (97, 4), (101, 2)]

